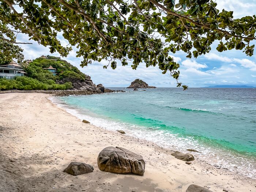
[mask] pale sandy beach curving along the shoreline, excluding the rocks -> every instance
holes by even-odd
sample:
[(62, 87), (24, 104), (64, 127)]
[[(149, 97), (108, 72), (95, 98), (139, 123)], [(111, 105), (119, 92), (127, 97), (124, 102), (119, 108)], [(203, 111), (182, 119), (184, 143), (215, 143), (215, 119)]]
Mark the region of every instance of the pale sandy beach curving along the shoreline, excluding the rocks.
[[(152, 142), (84, 124), (42, 93), (0, 94), (0, 191), (180, 191), (196, 184), (214, 192), (256, 191), (256, 180), (217, 169), (196, 158), (191, 165)], [(108, 146), (143, 156), (144, 176), (102, 172), (99, 152)], [(189, 148), (189, 146), (188, 146)], [(92, 173), (62, 171), (71, 162)]]

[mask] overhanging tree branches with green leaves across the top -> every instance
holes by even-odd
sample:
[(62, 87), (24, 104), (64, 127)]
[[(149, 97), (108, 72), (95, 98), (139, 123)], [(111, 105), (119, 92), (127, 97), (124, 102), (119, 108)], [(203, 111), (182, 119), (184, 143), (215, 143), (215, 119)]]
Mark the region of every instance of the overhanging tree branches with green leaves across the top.
[[(63, 35), (83, 57), (81, 66), (108, 59), (132, 68), (140, 63), (169, 71), (178, 79), (179, 64), (169, 53), (182, 50), (191, 58), (206, 54), (214, 41), (219, 52), (243, 50), (252, 56), (256, 16), (233, 19), (210, 0), (0, 0), (0, 21), (67, 56)], [(0, 31), (1, 32), (1, 31)], [(104, 68), (108, 67), (104, 66)], [(181, 86), (178, 83), (177, 86)], [(187, 89), (187, 86), (183, 86)]]

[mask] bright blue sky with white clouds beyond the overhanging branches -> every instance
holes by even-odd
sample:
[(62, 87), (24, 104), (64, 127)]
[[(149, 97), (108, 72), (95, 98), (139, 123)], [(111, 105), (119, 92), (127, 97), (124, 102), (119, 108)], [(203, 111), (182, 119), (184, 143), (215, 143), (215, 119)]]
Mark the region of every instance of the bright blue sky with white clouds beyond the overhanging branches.
[[(256, 0), (216, 0), (219, 10), (234, 11), (234, 18), (256, 14)], [(35, 59), (44, 55), (60, 56), (59, 53), (50, 54), (49, 48), (39, 45), (35, 41), (29, 41), (26, 34), (19, 34), (17, 42), (32, 42), (33, 44), (19, 45), (23, 48), (25, 59)], [(68, 42), (60, 36), (63, 45)], [(256, 42), (255, 42), (256, 43)], [(183, 52), (170, 53), (174, 61), (180, 64), (180, 82), (189, 87), (205, 87), (215, 85), (248, 85), (256, 86), (256, 55), (246, 56), (241, 50), (229, 50), (218, 52), (218, 43), (211, 47), (210, 53), (197, 57), (186, 58)], [(255, 51), (256, 52), (256, 51)], [(162, 74), (158, 67), (148, 67), (140, 64), (134, 70), (130, 66), (117, 65), (116, 69), (109, 67), (103, 69), (107, 61), (98, 63), (95, 61), (87, 67), (80, 67), (82, 58), (76, 57), (76, 48), (63, 58), (72, 65), (78, 67), (84, 74), (90, 75), (95, 84), (102, 83), (105, 87), (127, 87), (135, 79), (142, 79), (150, 86), (176, 87), (176, 80), (169, 74)], [(131, 65), (131, 63), (129, 63)]]

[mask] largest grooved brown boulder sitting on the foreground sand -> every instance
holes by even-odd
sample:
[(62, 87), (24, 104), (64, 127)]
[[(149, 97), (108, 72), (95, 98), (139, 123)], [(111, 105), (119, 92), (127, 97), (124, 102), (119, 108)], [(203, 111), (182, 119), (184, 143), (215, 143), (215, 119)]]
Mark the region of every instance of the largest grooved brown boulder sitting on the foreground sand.
[(99, 170), (112, 173), (143, 175), (145, 162), (141, 156), (122, 147), (106, 147), (98, 155)]

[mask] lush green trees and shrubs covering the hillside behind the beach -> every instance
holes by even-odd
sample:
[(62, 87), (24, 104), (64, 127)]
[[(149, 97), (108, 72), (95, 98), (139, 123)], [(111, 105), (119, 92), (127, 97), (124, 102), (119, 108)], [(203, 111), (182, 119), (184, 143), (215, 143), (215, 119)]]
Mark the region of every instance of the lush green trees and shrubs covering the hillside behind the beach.
[[(0, 79), (0, 90), (67, 90), (72, 88), (72, 83), (69, 81), (88, 78), (77, 67), (65, 60), (53, 56), (48, 56), (48, 58), (37, 58), (29, 65), (24, 65), (23, 68), (27, 76), (17, 76), (15, 79)], [(56, 76), (53, 76), (52, 72), (43, 69), (50, 65), (56, 68)], [(56, 80), (64, 80), (65, 83), (56, 84)]]

